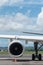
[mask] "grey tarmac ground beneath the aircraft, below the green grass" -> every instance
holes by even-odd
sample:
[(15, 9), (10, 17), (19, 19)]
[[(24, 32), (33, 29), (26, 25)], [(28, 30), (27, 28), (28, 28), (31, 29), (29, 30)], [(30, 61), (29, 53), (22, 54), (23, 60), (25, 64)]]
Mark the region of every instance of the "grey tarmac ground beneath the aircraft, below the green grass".
[[(10, 59), (8, 60), (8, 58)], [(42, 61), (32, 61), (31, 55), (23, 55), (22, 57), (17, 58), (17, 61), (15, 61), (14, 58), (11, 60), (9, 55), (0, 55), (0, 65), (43, 65), (43, 56)]]

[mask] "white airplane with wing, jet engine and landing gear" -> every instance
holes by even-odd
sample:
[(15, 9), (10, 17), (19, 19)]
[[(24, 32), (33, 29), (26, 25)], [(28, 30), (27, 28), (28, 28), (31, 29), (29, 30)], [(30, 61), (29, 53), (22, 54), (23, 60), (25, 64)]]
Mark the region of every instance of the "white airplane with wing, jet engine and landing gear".
[[(27, 32), (24, 32), (27, 33)], [(29, 32), (28, 32), (29, 33)], [(32, 34), (30, 32), (30, 34)], [(39, 33), (34, 33), (39, 34)], [(42, 34), (39, 34), (42, 35)], [(42, 60), (42, 55), (38, 54), (39, 49), (43, 46), (43, 36), (22, 36), (22, 35), (0, 35), (1, 39), (9, 39), (10, 43), (8, 45), (8, 52), (10, 56), (17, 58), (23, 55), (25, 47), (23, 46), (21, 40), (25, 40), (26, 43), (28, 41), (34, 42), (34, 49), (35, 54), (32, 54), (32, 60), (38, 58), (38, 60)], [(38, 48), (39, 42), (41, 43), (40, 47)]]

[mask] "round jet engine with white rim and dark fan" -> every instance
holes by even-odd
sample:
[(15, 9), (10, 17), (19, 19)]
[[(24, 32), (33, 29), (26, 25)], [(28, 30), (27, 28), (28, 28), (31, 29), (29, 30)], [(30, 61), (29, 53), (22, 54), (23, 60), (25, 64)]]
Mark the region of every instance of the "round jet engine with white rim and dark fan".
[(11, 56), (13, 57), (19, 57), (24, 52), (24, 46), (21, 44), (20, 41), (14, 40), (12, 41), (8, 46), (8, 51)]

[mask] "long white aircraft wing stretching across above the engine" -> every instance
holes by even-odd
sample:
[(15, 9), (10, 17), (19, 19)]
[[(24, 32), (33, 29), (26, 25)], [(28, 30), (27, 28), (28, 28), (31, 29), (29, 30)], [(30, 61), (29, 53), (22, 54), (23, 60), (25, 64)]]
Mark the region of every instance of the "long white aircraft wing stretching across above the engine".
[(43, 42), (43, 36), (0, 35), (0, 38)]

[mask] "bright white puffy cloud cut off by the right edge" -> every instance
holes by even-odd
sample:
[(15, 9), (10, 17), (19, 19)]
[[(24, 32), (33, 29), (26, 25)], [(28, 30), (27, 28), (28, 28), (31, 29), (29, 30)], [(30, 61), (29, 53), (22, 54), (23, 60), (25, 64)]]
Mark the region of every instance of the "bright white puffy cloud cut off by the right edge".
[(38, 14), (37, 27), (37, 29), (43, 31), (43, 7), (41, 8), (41, 12)]

